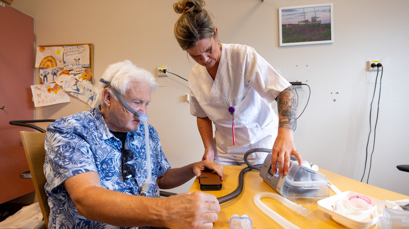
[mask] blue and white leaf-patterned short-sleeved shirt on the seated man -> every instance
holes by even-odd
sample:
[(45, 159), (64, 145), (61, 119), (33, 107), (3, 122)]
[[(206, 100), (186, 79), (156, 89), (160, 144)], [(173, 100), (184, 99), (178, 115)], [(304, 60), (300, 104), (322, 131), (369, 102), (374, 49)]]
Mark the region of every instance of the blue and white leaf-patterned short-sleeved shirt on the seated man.
[[(156, 183), (170, 168), (156, 130), (149, 125), (152, 179), (150, 197), (160, 197)], [(145, 129), (143, 122), (135, 131), (128, 132), (125, 148), (133, 151), (134, 159), (128, 164), (136, 168), (136, 177), (124, 182), (122, 178), (122, 142), (109, 131), (100, 107), (59, 118), (47, 128), (45, 136), (44, 174), (45, 192), (50, 207), (48, 228), (121, 228), (92, 221), (80, 216), (63, 182), (79, 173), (95, 171), (102, 187), (139, 195), (139, 187), (147, 177)], [(110, 211), (107, 206), (107, 211)], [(137, 217), (137, 215), (135, 215)]]

